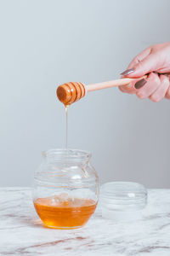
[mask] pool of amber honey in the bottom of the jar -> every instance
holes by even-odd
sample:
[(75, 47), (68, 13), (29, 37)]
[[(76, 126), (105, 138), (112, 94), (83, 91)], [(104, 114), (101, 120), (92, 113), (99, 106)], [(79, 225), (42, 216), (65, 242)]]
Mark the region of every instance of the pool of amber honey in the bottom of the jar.
[[(57, 198), (58, 200), (58, 198)], [(92, 199), (75, 198), (73, 201), (54, 202), (50, 197), (37, 198), (34, 207), (43, 224), (54, 229), (82, 227), (95, 211), (97, 203)]]

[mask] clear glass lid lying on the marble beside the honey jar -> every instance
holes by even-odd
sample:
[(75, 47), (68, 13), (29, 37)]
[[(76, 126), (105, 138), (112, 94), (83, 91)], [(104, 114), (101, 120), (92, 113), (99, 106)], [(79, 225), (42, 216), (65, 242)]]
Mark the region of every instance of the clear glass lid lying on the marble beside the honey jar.
[(115, 221), (134, 221), (142, 218), (147, 203), (144, 185), (131, 182), (111, 182), (101, 186), (102, 216)]

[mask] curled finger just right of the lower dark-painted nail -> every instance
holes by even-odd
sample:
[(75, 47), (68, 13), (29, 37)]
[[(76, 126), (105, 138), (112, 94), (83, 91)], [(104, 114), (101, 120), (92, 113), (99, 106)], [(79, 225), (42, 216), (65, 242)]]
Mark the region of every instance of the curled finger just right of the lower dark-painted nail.
[(140, 99), (145, 99), (151, 96), (160, 86), (161, 81), (159, 76), (156, 73), (150, 73), (147, 79), (147, 83), (144, 86), (137, 90), (136, 96)]

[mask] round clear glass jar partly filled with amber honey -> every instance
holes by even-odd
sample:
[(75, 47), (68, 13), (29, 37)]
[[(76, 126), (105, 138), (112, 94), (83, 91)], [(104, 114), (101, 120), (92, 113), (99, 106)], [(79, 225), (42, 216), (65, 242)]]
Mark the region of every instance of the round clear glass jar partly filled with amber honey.
[(99, 199), (99, 177), (90, 165), (91, 154), (76, 149), (50, 149), (34, 175), (33, 202), (45, 226), (82, 227)]

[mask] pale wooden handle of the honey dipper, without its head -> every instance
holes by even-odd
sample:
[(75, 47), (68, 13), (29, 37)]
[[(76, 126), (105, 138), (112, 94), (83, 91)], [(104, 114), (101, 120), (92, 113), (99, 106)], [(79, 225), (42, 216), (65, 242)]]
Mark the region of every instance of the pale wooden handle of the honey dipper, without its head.
[(146, 76), (138, 79), (117, 79), (117, 80), (112, 80), (108, 82), (103, 82), (103, 83), (97, 83), (97, 84), (88, 84), (86, 86), (87, 91), (92, 91), (92, 90), (100, 90), (100, 89), (105, 89), (105, 88), (110, 88), (110, 87), (115, 87), (115, 86), (120, 86), (120, 85), (125, 85), (131, 83), (133, 80), (139, 80), (139, 79), (144, 79)]

